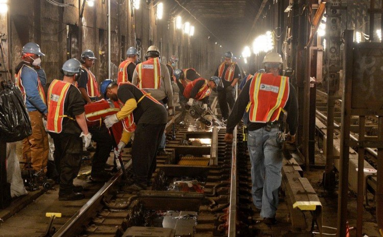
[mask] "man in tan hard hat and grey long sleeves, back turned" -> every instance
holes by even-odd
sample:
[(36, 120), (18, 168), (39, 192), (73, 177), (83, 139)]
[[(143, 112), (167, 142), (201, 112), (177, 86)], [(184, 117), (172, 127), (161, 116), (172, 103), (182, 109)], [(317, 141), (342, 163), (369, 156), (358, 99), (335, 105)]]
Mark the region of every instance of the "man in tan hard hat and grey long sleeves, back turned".
[[(147, 61), (139, 63), (133, 73), (132, 84), (139, 89), (150, 93), (153, 98), (162, 103), (169, 110), (169, 115), (173, 115), (173, 88), (170, 80), (169, 70), (166, 65), (160, 63), (160, 52), (158, 47), (151, 45), (145, 56)], [(165, 155), (166, 136), (162, 136), (161, 144), (158, 149), (160, 155)]]

